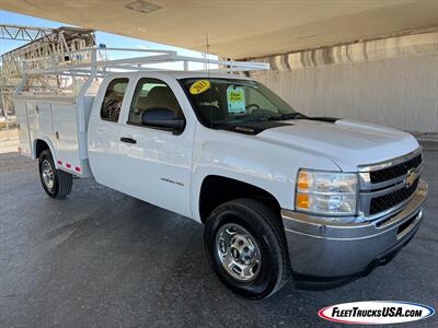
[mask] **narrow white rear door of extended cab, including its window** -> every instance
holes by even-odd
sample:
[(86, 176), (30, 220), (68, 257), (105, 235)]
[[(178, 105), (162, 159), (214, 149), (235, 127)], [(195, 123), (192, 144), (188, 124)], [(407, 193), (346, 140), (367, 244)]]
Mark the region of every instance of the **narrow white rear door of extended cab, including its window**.
[(97, 183), (122, 190), (117, 165), (117, 140), (120, 110), (126, 104), (129, 79), (114, 78), (104, 81), (104, 92), (95, 98), (89, 124), (90, 167)]

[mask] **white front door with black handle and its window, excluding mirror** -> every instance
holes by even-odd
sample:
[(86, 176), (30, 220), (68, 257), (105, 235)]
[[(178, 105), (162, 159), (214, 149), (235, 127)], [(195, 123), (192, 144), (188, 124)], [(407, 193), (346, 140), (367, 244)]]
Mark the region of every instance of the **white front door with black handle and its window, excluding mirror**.
[(191, 216), (193, 131), (186, 128), (175, 133), (142, 124), (143, 113), (157, 108), (171, 109), (175, 117), (184, 118), (174, 92), (164, 81), (140, 79), (119, 130), (123, 191)]

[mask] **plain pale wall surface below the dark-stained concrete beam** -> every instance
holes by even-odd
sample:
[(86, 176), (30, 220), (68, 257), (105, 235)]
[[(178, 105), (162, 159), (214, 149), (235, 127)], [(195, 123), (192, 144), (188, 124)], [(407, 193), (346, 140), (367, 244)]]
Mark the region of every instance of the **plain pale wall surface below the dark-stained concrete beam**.
[(252, 74), (297, 110), (438, 132), (438, 56)]

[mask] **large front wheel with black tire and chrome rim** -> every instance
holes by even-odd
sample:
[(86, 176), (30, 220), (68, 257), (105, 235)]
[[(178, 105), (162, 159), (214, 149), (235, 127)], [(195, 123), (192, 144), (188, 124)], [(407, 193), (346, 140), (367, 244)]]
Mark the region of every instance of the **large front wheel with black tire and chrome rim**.
[(283, 227), (256, 200), (237, 199), (216, 208), (206, 222), (204, 246), (219, 279), (245, 297), (268, 297), (289, 276)]

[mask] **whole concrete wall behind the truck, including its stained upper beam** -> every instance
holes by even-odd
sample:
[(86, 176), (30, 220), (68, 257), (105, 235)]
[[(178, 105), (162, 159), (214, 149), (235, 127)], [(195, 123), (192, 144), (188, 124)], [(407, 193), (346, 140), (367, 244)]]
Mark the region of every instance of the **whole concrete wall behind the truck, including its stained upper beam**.
[(438, 32), (261, 58), (251, 77), (297, 110), (438, 132)]

